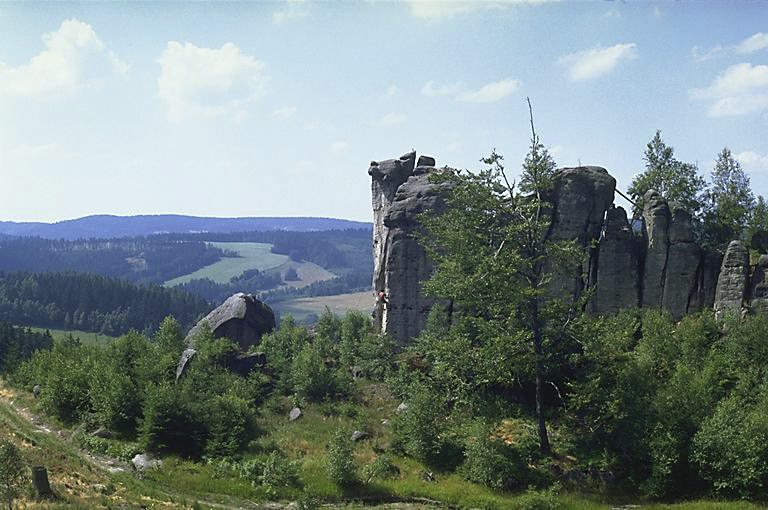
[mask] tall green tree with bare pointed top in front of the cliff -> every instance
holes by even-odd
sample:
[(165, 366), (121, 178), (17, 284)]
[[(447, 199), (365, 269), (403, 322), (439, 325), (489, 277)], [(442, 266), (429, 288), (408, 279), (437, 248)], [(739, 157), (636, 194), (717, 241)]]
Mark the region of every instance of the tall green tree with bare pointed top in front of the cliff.
[(532, 116), (531, 127), (519, 190), (495, 151), (483, 160), (487, 170), (439, 174), (436, 183), (449, 190), (444, 210), (424, 215), (421, 240), (435, 262), (426, 292), (462, 310), (474, 330), (470, 342), (497, 346), (495, 355), (515, 364), (513, 378), (533, 380), (540, 447), (549, 452), (544, 385), (575, 313), (549, 288), (550, 268), (571, 267), (583, 255), (573, 242), (547, 239), (555, 163)]

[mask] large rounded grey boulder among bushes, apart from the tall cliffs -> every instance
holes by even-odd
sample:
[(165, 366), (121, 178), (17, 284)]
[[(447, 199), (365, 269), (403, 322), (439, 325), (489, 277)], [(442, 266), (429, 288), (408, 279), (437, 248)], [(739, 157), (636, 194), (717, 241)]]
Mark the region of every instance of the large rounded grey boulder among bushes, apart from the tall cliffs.
[(275, 329), (275, 313), (253, 294), (238, 292), (189, 330), (185, 340), (188, 347), (195, 347), (195, 337), (206, 323), (215, 337), (229, 338), (246, 351), (258, 345), (262, 335)]

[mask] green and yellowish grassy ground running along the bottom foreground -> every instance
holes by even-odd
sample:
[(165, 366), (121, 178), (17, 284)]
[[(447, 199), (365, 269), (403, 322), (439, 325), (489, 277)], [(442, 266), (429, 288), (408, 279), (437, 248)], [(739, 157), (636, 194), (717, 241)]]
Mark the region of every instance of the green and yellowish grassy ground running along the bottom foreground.
[[(36, 401), (23, 392), (13, 392), (0, 386), (0, 437), (8, 438), (21, 447), (29, 465), (44, 465), (59, 499), (38, 502), (29, 497), (19, 501), (20, 508), (29, 509), (86, 509), (86, 508), (163, 508), (188, 509), (196, 501), (204, 504), (199, 508), (262, 508), (259, 502), (267, 499), (295, 501), (302, 491), (320, 498), (324, 508), (346, 510), (375, 510), (394, 508), (377, 505), (376, 501), (427, 498), (440, 501), (440, 505), (428, 505), (413, 501), (400, 503), (399, 510), (427, 510), (428, 508), (498, 509), (498, 510), (603, 510), (611, 508), (636, 508), (621, 506), (590, 494), (561, 493), (526, 494), (498, 493), (472, 484), (454, 473), (435, 473), (436, 481), (426, 481), (422, 473), (425, 467), (413, 459), (393, 455), (391, 458), (400, 470), (391, 480), (371, 484), (359, 484), (341, 490), (326, 475), (325, 445), (338, 429), (361, 429), (371, 433), (371, 438), (356, 445), (355, 459), (362, 467), (377, 455), (374, 448), (387, 448), (391, 430), (382, 424), (391, 418), (397, 401), (380, 384), (360, 382), (356, 394), (361, 402), (323, 403), (302, 406), (303, 416), (294, 422), (287, 419), (292, 406), (289, 398), (274, 399), (262, 408), (259, 419), (263, 435), (251, 446), (246, 458), (263, 455), (279, 449), (283, 454), (301, 464), (301, 487), (280, 488), (269, 492), (264, 487), (254, 487), (234, 476), (216, 477), (211, 465), (202, 462), (170, 457), (163, 467), (137, 479), (130, 473), (108, 474), (95, 467), (91, 461), (63, 435), (45, 433), (19, 416), (18, 407), (35, 407)], [(534, 499), (535, 501), (532, 501)], [(355, 501), (357, 503), (355, 503)], [(365, 502), (365, 505), (362, 503)], [(534, 503), (538, 503), (535, 505)], [(557, 506), (552, 506), (556, 504)], [(763, 506), (743, 501), (691, 501), (676, 504), (639, 503), (637, 508), (648, 510), (757, 510)]]

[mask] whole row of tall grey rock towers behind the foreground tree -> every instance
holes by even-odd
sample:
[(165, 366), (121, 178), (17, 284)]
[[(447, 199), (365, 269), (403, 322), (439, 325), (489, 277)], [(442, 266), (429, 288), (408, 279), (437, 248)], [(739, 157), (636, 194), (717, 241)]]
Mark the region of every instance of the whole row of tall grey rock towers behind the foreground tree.
[[(372, 162), (368, 169), (374, 210), (373, 284), (388, 300), (377, 322), (401, 344), (421, 331), (433, 304), (421, 293), (432, 264), (413, 233), (417, 215), (440, 207), (445, 192), (429, 181), (429, 175), (441, 171), (434, 165), (434, 159), (424, 156), (416, 162), (411, 152)], [(604, 168), (563, 168), (554, 182), (547, 235), (575, 240), (585, 250), (583, 264), (552, 268), (554, 292), (578, 298), (594, 287), (587, 310), (599, 314), (644, 307), (666, 310), (679, 319), (714, 305), (722, 315), (741, 310), (750, 296), (753, 310), (768, 311), (768, 257), (761, 259), (750, 284), (741, 243), (731, 243), (721, 269), (721, 257), (696, 243), (690, 214), (656, 191), (644, 197), (642, 223), (635, 229), (626, 211), (614, 206), (616, 180)]]

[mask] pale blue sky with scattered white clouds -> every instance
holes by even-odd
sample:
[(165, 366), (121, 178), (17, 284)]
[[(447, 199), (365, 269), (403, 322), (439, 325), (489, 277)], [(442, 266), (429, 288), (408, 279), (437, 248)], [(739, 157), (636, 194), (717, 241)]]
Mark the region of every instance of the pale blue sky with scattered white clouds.
[(768, 3), (0, 3), (0, 219), (369, 220), (371, 160), (626, 189), (656, 129), (768, 194)]

